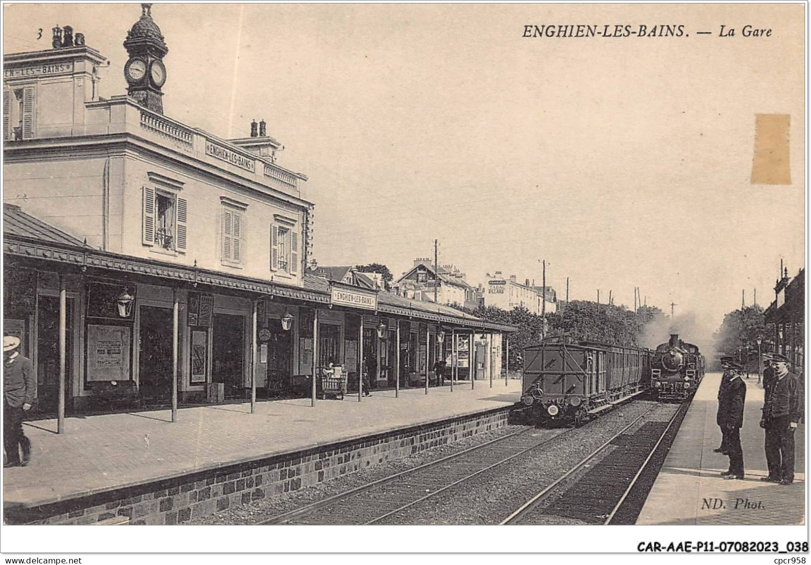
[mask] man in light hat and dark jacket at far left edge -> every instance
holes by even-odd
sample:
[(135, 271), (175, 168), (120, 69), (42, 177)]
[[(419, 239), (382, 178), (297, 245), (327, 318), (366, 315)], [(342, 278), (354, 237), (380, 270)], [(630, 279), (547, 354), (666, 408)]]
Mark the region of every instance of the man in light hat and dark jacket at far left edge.
[[(31, 460), (31, 441), (23, 434), (23, 414), (36, 398), (36, 375), (30, 359), (19, 353), (19, 337), (2, 338), (3, 467), (24, 467)], [(19, 459), (19, 447), (23, 459)]]

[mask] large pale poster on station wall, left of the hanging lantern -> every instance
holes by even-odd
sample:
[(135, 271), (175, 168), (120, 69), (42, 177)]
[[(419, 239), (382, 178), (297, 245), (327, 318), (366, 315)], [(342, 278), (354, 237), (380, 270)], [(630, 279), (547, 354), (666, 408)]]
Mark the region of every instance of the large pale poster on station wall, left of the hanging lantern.
[(130, 327), (88, 324), (88, 382), (130, 379)]

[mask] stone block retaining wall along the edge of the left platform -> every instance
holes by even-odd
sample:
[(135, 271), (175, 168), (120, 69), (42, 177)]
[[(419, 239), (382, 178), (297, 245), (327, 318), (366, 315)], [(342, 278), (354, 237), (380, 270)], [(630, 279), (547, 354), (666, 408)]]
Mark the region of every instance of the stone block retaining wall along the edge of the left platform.
[(97, 524), (126, 516), (129, 524), (180, 524), (495, 430), (507, 425), (508, 412), (492, 409), (40, 507), (6, 508), (5, 520)]

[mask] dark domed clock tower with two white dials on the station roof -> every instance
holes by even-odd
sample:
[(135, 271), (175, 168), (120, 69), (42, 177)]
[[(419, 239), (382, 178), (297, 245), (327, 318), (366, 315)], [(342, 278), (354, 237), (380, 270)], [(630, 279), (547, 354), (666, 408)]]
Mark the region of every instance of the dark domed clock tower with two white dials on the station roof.
[(166, 67), (163, 64), (169, 49), (163, 41), (161, 28), (152, 21), (152, 4), (141, 4), (143, 13), (129, 32), (124, 49), (130, 59), (124, 66), (127, 79), (127, 95), (142, 106), (163, 113), (161, 87), (166, 82)]

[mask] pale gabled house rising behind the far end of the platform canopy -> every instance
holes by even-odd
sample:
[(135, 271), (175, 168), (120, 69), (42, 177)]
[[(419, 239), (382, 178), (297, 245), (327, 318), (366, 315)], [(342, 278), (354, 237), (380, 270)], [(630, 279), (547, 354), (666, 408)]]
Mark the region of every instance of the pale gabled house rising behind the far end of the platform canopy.
[(414, 266), (394, 281), (397, 296), (440, 304), (459, 304), (471, 309), (478, 306), (476, 289), (465, 280), (465, 273), (451, 264), (434, 267), (430, 258), (414, 259)]

